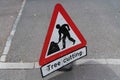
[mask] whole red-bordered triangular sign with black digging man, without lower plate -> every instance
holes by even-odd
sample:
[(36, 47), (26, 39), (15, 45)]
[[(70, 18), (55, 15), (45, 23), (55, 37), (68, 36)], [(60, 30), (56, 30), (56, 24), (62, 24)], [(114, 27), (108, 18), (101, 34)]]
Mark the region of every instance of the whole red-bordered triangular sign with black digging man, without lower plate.
[(39, 64), (44, 66), (86, 46), (86, 40), (62, 5), (53, 11)]

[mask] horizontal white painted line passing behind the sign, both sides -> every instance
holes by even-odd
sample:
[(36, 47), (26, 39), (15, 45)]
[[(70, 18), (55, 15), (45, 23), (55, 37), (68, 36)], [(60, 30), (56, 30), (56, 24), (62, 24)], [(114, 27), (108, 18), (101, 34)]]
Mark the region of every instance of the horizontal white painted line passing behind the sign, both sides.
[[(119, 65), (120, 59), (79, 59), (75, 61), (74, 65), (82, 64), (107, 64), (107, 65)], [(36, 69), (40, 68), (39, 62), (28, 62), (28, 63), (4, 63), (0, 62), (0, 69)]]

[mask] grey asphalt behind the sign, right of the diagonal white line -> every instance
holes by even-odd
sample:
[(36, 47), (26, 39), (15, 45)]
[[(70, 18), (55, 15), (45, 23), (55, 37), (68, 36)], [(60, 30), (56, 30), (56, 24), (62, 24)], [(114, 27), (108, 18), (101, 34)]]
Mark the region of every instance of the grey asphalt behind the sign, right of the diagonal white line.
[[(27, 0), (7, 62), (39, 60), (52, 12), (58, 2)], [(86, 58), (120, 57), (119, 0), (66, 0), (60, 3), (87, 40)]]

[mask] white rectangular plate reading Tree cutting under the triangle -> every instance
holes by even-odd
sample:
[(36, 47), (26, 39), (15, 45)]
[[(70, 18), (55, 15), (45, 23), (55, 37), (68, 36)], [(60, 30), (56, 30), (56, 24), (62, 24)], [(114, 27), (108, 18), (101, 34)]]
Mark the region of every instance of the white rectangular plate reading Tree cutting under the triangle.
[(55, 70), (87, 55), (87, 47), (81, 48), (79, 50), (76, 50), (66, 56), (63, 56), (57, 60), (54, 60), (53, 62), (48, 63), (47, 65), (44, 65), (41, 67), (42, 76), (46, 76)]

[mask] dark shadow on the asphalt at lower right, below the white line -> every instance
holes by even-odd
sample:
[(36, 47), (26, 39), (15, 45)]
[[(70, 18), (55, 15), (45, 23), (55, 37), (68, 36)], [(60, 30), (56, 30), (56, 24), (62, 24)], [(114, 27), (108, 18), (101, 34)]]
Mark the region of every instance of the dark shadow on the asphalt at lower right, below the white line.
[(72, 71), (64, 72), (49, 80), (120, 80), (108, 65), (89, 63), (91, 61), (81, 65), (74, 65)]

